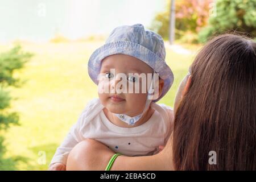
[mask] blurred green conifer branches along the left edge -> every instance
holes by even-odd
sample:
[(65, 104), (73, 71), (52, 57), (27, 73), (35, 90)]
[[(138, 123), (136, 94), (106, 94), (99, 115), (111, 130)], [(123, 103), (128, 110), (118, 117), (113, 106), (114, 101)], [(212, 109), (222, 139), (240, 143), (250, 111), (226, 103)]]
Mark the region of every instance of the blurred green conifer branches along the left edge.
[[(31, 53), (21, 52), (20, 46), (0, 54), (0, 130), (7, 130), (10, 124), (18, 124), (18, 113), (8, 111), (11, 96), (6, 88), (22, 85), (20, 79), (14, 77), (14, 72), (23, 68), (24, 64), (31, 59), (31, 56)], [(14, 169), (14, 159), (4, 157), (6, 148), (3, 145), (3, 140), (4, 138), (0, 137), (0, 170)]]

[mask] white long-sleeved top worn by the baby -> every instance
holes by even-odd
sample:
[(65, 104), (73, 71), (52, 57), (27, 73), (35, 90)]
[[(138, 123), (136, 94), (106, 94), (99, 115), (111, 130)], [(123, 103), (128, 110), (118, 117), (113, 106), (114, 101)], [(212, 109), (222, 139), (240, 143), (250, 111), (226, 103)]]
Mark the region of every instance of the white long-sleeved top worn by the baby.
[(82, 111), (63, 143), (57, 148), (51, 164), (66, 164), (68, 154), (77, 143), (86, 138), (104, 143), (114, 152), (128, 156), (152, 155), (165, 145), (172, 132), (174, 114), (171, 107), (154, 102), (151, 118), (142, 125), (125, 128), (114, 125), (104, 114), (104, 106), (94, 99)]

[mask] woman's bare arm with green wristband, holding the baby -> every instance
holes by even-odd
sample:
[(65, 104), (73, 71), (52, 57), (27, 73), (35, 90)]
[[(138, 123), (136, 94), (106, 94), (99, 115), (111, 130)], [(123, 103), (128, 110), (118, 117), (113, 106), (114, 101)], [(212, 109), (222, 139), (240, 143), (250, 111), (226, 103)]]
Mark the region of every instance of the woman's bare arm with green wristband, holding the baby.
[[(166, 149), (166, 148), (165, 148)], [(164, 150), (165, 150), (164, 149)], [(105, 170), (110, 158), (115, 153), (104, 144), (93, 139), (86, 139), (77, 144), (70, 152), (67, 170)], [(171, 170), (166, 152), (152, 156), (118, 156), (112, 170)]]

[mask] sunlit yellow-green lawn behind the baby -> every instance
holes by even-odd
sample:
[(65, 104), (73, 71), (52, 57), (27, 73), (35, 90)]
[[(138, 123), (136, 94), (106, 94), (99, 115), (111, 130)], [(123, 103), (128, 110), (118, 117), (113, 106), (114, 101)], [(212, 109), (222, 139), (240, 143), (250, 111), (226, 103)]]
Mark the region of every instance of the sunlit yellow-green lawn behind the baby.
[[(5, 133), (6, 157), (22, 156), (19, 170), (46, 170), (69, 128), (77, 121), (86, 103), (97, 97), (97, 86), (90, 80), (87, 61), (103, 42), (21, 43), (24, 51), (35, 54), (15, 76), (27, 80), (22, 88), (11, 89), (12, 109), (19, 112), (20, 126)], [(196, 52), (199, 47), (185, 45)], [(0, 46), (0, 51), (6, 49)], [(167, 63), (175, 81), (170, 92), (159, 101), (173, 106), (175, 93), (195, 53), (175, 53), (167, 47)], [(40, 152), (46, 164), (39, 164)]]

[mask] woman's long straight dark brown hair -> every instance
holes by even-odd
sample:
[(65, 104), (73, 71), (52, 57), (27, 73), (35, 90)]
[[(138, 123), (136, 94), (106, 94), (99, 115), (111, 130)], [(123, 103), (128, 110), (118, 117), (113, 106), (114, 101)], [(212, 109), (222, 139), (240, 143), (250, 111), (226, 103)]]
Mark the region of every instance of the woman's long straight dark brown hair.
[(175, 113), (175, 168), (255, 170), (256, 43), (231, 34), (213, 38), (193, 61), (191, 77)]

